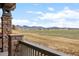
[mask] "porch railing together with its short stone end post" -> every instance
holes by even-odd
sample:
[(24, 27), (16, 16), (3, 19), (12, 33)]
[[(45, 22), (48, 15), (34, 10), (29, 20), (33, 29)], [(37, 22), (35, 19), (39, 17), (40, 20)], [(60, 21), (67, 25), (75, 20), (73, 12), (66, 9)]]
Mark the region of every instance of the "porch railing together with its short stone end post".
[[(23, 35), (8, 35), (8, 56), (67, 56), (45, 45), (22, 39)], [(69, 55), (68, 55), (69, 56)]]

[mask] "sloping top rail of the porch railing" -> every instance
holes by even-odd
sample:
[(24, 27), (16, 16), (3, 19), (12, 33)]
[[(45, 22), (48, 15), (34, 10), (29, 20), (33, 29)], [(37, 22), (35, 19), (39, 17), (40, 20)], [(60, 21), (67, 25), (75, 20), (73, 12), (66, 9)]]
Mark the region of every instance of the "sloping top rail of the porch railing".
[(37, 48), (37, 49), (41, 49), (41, 50), (47, 51), (47, 52), (49, 52), (51, 54), (54, 54), (54, 55), (58, 55), (58, 56), (70, 56), (70, 54), (65, 54), (65, 53), (59, 52), (59, 51), (57, 51), (55, 49), (51, 49), (51, 48), (48, 48), (46, 46), (39, 45), (39, 44), (30, 42), (30, 41), (20, 40), (19, 42), (22, 43), (22, 44), (24, 44), (24, 45), (28, 45), (28, 46), (31, 46), (31, 47), (34, 47), (34, 48)]

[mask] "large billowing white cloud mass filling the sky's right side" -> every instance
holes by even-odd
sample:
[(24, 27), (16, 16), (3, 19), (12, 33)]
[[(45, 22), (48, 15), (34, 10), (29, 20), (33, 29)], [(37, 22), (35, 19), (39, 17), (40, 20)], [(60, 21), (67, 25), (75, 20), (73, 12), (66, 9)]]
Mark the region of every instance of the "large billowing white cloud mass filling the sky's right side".
[(58, 27), (79, 27), (79, 11), (65, 7), (57, 13), (43, 13), (39, 16), (41, 20), (51, 21), (52, 26)]

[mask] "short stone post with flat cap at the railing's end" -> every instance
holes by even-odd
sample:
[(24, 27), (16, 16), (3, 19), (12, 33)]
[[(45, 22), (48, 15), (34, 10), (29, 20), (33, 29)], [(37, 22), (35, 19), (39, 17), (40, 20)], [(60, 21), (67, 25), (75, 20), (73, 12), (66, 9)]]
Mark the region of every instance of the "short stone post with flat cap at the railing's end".
[(22, 40), (23, 35), (18, 34), (10, 34), (8, 35), (8, 56), (16, 55), (16, 45), (18, 44), (19, 40)]

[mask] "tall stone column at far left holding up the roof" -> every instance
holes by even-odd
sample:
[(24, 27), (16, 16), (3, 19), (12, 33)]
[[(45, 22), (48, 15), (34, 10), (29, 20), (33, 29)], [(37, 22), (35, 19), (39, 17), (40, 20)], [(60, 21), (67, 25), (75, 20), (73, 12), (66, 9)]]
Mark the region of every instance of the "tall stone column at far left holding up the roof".
[(12, 33), (12, 25), (11, 25), (11, 19), (12, 17), (10, 15), (3, 15), (1, 17), (1, 25), (2, 25), (2, 48), (3, 48), (3, 51), (7, 51), (8, 49), (8, 34), (11, 34)]

